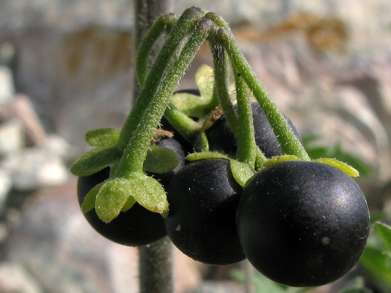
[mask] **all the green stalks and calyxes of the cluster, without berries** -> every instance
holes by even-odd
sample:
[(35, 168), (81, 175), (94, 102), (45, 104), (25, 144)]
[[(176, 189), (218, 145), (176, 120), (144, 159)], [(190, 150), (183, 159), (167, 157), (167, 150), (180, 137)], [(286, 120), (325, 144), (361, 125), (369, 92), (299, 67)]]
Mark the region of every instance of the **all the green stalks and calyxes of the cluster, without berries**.
[[(167, 34), (166, 41), (149, 68), (147, 61), (152, 47), (163, 34)], [(213, 68), (201, 66), (195, 74), (201, 96), (189, 93), (173, 95), (204, 41), (210, 45)], [(87, 132), (86, 142), (95, 148), (82, 155), (70, 169), (74, 175), (88, 176), (107, 166), (111, 168), (110, 178), (86, 195), (82, 205), (84, 212), (95, 207), (100, 219), (110, 222), (121, 211), (131, 212), (131, 207), (138, 202), (149, 211), (167, 215), (168, 203), (164, 189), (158, 181), (144, 174), (170, 172), (179, 162), (178, 155), (172, 150), (151, 145), (163, 115), (181, 136), (194, 145), (197, 153), (188, 155), (189, 161), (228, 159), (232, 174), (241, 186), (246, 185), (255, 170), (287, 160), (310, 161), (221, 17), (197, 7), (185, 10), (179, 18), (174, 14), (161, 16), (152, 25), (139, 48), (136, 75), (141, 90), (122, 130), (104, 128)], [(229, 64), (235, 78), (237, 111), (234, 110), (228, 84)], [(256, 146), (251, 94), (264, 110), (285, 155), (267, 160)], [(204, 130), (211, 113), (218, 106), (237, 140), (235, 159), (218, 152), (209, 152)], [(354, 168), (335, 159), (314, 161), (335, 166), (350, 176), (358, 176)]]

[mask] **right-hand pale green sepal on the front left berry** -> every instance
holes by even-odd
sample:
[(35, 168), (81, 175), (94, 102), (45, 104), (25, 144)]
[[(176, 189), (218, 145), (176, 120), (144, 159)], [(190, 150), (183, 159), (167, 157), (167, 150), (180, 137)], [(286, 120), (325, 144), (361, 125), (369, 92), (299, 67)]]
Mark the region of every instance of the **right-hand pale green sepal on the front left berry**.
[(169, 203), (166, 192), (156, 179), (143, 175), (131, 179), (131, 182), (132, 195), (140, 205), (155, 213), (167, 213)]

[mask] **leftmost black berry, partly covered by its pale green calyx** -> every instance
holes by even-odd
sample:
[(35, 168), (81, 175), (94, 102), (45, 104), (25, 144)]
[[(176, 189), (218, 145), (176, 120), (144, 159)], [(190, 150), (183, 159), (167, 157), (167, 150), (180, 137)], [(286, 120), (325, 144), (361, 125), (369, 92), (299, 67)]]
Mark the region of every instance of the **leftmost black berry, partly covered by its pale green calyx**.
[[(77, 181), (79, 205), (83, 204), (91, 188), (108, 178), (109, 168), (90, 176), (79, 177)], [(84, 216), (99, 234), (123, 245), (146, 245), (167, 235), (160, 214), (148, 211), (138, 203), (128, 211), (120, 212), (117, 218), (109, 223), (102, 222), (95, 209), (85, 213)]]

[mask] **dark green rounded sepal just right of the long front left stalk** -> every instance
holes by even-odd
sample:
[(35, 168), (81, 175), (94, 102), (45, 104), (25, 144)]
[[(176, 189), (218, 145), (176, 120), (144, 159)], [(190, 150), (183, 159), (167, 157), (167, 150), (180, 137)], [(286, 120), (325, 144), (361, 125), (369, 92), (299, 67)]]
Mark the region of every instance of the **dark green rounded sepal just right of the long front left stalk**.
[(152, 145), (143, 163), (143, 170), (163, 174), (173, 170), (179, 163), (179, 156), (169, 148)]

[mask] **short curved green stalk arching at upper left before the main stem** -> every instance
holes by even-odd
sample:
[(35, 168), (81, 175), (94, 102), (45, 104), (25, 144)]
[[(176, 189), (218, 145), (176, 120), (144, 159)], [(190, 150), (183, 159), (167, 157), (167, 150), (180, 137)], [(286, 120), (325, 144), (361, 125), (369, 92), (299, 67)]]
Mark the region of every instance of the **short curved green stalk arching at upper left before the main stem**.
[(136, 55), (136, 77), (140, 86), (144, 85), (145, 79), (148, 75), (148, 60), (152, 47), (161, 33), (165, 30), (170, 30), (177, 20), (176, 15), (169, 13), (160, 16), (148, 30), (147, 34), (143, 38)]

